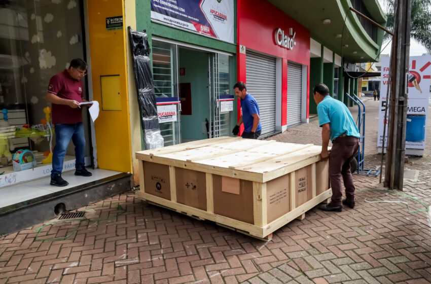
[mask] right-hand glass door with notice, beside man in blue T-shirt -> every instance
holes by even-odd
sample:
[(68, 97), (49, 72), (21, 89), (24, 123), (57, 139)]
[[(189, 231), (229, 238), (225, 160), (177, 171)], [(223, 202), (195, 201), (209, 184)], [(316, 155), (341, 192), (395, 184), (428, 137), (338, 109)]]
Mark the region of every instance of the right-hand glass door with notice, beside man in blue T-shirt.
[(234, 96), (231, 94), (229, 56), (212, 53), (209, 64), (209, 137), (230, 136)]

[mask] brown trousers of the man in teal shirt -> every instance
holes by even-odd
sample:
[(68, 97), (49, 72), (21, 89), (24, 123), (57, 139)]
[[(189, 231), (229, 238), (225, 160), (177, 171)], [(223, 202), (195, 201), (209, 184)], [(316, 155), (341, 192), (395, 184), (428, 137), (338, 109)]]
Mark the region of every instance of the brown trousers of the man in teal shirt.
[(354, 184), (350, 171), (350, 162), (359, 148), (359, 139), (353, 136), (339, 136), (332, 141), (329, 155), (329, 178), (331, 180), (331, 204), (341, 205), (343, 193), (341, 191), (341, 177), (346, 189), (346, 198), (354, 199)]

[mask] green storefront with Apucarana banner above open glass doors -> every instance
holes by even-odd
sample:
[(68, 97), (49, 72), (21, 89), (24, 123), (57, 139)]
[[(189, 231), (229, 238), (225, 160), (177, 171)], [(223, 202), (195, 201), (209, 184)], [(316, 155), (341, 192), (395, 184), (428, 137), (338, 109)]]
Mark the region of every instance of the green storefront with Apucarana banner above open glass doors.
[[(141, 3), (132, 26), (148, 34), (163, 146), (229, 136), (236, 123), (236, 3), (172, 5)], [(138, 135), (132, 132), (134, 151), (142, 150)]]

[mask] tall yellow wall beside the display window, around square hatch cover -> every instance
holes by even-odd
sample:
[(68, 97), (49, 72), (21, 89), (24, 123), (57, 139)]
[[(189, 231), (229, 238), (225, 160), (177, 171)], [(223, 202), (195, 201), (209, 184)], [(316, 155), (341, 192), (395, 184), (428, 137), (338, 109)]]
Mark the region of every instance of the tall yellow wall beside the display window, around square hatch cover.
[[(133, 1), (134, 2), (134, 1)], [(101, 169), (132, 171), (126, 35), (122, 0), (89, 0), (88, 26), (90, 38), (93, 99), (100, 104), (95, 121), (97, 163)], [(106, 30), (106, 18), (123, 15), (123, 29)], [(120, 76), (121, 111), (101, 109), (100, 76)]]

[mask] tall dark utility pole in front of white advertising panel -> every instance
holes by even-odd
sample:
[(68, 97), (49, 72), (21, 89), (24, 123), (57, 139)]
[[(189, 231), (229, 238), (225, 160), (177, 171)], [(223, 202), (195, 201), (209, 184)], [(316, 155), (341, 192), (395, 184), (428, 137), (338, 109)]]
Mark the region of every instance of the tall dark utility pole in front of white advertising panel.
[(412, 0), (395, 1), (384, 186), (403, 190)]

